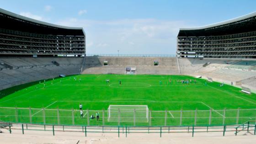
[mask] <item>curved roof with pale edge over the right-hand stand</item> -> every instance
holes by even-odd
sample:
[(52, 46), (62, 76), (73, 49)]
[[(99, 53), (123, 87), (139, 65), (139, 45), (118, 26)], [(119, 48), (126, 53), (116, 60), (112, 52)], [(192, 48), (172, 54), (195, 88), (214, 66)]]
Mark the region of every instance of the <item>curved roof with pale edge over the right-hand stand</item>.
[(218, 36), (256, 31), (256, 12), (203, 27), (180, 28), (178, 37)]

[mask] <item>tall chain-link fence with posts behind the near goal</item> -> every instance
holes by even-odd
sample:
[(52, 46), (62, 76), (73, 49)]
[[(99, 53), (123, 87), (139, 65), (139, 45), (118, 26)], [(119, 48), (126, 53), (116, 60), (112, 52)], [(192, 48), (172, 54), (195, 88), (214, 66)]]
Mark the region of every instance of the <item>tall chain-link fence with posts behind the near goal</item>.
[[(99, 115), (98, 120), (96, 112)], [(148, 114), (134, 109), (133, 111), (119, 110), (115, 115), (112, 115), (114, 117), (109, 117), (108, 114), (107, 110), (83, 110), (83, 115), (81, 115), (80, 110), (0, 107), (0, 120), (15, 123), (81, 124), (88, 126), (186, 126), (240, 124), (256, 120), (256, 109), (149, 110)], [(143, 117), (141, 117), (142, 115)]]

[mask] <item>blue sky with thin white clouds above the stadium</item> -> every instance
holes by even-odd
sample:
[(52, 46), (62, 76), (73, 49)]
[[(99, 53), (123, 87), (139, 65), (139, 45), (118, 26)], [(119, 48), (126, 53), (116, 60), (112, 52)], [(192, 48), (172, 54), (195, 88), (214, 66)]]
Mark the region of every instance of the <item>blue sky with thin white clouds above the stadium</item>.
[(175, 54), (179, 28), (249, 14), (256, 0), (0, 0), (0, 8), (83, 27), (86, 53)]

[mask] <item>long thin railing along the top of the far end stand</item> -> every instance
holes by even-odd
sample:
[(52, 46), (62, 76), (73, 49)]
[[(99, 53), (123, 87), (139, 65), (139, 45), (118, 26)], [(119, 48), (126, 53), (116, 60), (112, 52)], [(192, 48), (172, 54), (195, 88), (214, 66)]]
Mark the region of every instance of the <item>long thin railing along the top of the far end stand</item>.
[(86, 56), (100, 57), (176, 57), (175, 54), (86, 54)]

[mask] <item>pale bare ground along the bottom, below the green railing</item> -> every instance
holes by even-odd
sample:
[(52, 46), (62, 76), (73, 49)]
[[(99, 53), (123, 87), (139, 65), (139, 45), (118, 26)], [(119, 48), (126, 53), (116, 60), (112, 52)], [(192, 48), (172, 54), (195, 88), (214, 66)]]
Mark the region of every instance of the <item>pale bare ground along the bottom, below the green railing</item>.
[(235, 136), (234, 132), (223, 133), (85, 133), (82, 132), (53, 132), (1, 129), (0, 144), (256, 144), (256, 135), (241, 132)]

